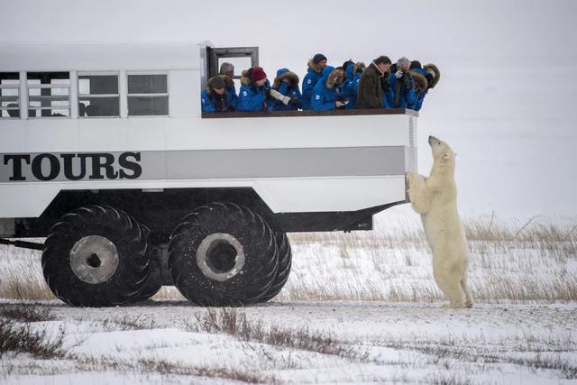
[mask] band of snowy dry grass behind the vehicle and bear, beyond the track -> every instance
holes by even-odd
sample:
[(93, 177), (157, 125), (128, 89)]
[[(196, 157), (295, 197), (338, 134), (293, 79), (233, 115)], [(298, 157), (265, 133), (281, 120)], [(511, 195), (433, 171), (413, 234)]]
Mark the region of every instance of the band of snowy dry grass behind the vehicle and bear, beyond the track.
[[(470, 286), (477, 302), (577, 301), (577, 225), (533, 218), (504, 223), (466, 220)], [(293, 269), (276, 301), (361, 300), (444, 302), (432, 277), (420, 225), (386, 232), (289, 234)], [(0, 246), (0, 298), (55, 299), (40, 269), (40, 253)], [(185, 298), (174, 287), (153, 299)]]

